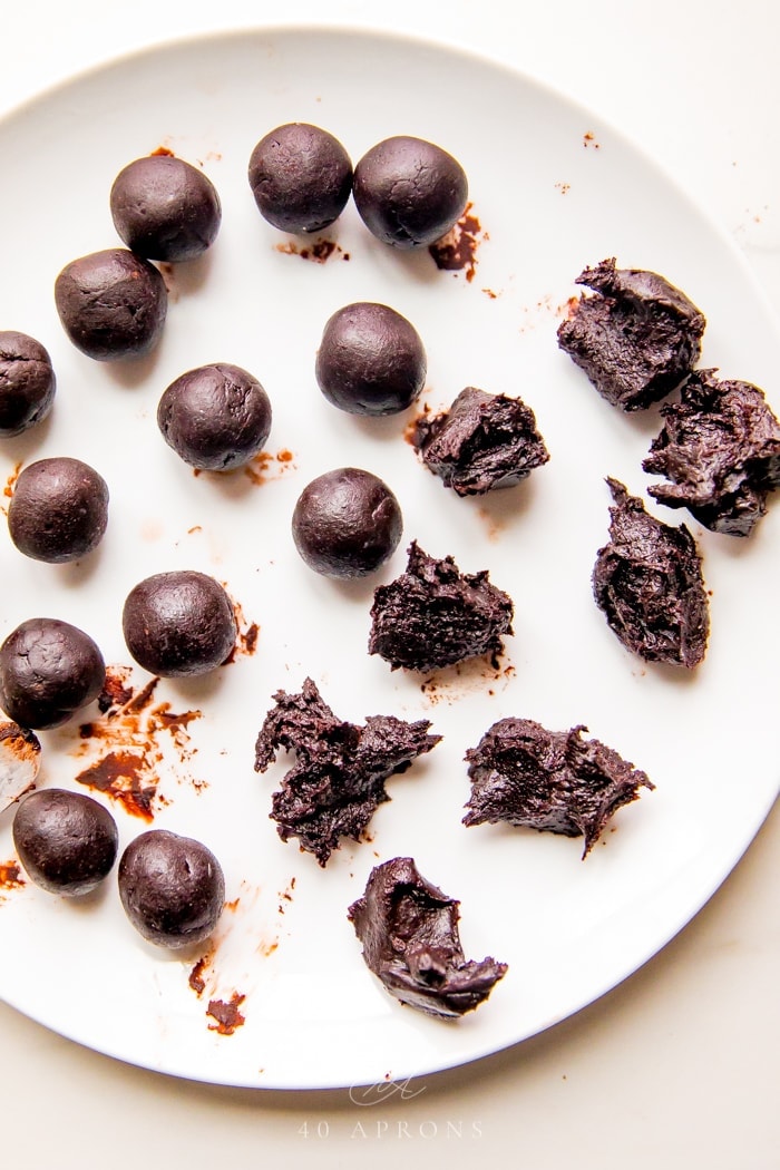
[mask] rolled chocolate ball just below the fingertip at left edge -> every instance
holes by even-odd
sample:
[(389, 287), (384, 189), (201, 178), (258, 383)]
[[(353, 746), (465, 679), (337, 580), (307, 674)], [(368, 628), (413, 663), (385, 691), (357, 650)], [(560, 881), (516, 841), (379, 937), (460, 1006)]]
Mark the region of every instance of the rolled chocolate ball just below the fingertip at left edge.
[(89, 894), (117, 858), (119, 834), (111, 813), (65, 789), (32, 792), (16, 811), (13, 834), (27, 874), (51, 894)]

